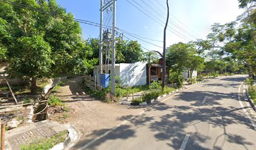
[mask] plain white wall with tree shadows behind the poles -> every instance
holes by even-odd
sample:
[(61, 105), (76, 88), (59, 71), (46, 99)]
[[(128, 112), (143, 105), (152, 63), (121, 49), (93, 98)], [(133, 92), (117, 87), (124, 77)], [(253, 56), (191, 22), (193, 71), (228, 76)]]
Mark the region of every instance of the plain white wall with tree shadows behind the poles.
[(120, 64), (120, 81), (124, 86), (142, 86), (147, 84), (147, 63)]

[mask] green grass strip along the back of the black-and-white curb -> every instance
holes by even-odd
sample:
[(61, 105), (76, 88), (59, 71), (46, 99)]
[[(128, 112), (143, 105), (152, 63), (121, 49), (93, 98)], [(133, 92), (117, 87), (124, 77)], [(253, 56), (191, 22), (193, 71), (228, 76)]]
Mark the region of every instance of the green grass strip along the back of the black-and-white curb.
[(147, 92), (144, 92), (142, 94), (142, 96), (140, 96), (139, 98), (135, 98), (132, 101), (132, 103), (142, 103), (142, 102), (145, 102), (147, 100), (156, 99), (158, 96), (161, 96), (163, 94), (171, 93), (174, 90), (175, 90), (174, 88), (169, 88), (169, 87), (164, 88), (163, 92), (160, 89), (151, 89)]

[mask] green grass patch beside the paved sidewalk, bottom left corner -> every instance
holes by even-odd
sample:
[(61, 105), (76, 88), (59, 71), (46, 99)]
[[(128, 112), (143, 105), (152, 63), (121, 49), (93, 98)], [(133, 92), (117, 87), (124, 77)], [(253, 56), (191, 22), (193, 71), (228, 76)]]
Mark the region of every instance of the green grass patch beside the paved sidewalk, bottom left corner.
[(68, 135), (68, 131), (62, 131), (60, 133), (55, 134), (55, 136), (52, 136), (51, 138), (43, 138), (38, 139), (34, 141), (33, 143), (29, 145), (21, 145), (21, 150), (31, 150), (31, 149), (37, 149), (37, 150), (46, 150), (51, 149), (53, 146), (55, 146), (58, 143), (63, 143)]

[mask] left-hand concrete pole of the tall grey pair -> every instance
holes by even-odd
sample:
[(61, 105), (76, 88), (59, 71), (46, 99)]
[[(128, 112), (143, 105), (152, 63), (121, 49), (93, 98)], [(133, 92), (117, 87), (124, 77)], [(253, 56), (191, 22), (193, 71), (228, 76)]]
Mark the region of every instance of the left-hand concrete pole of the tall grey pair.
[(99, 73), (98, 73), (98, 84), (100, 88), (100, 74), (102, 74), (102, 26), (103, 26), (103, 0), (100, 0), (100, 51), (99, 51)]

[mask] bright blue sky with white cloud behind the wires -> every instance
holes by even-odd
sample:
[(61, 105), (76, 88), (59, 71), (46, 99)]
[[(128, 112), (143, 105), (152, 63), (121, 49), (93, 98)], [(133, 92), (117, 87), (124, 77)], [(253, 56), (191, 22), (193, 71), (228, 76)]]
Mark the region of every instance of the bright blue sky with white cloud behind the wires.
[[(100, 23), (100, 0), (57, 0), (57, 2), (67, 12), (72, 12), (77, 19)], [(137, 39), (125, 33), (124, 36), (139, 41), (146, 49), (163, 52), (163, 42), (159, 41), (163, 41), (167, 14), (166, 0), (117, 0), (116, 2), (116, 26), (141, 37)], [(215, 22), (225, 24), (235, 21), (237, 16), (242, 14), (243, 9), (238, 8), (237, 0), (169, 0), (169, 11), (167, 47), (178, 42), (206, 39), (207, 34), (211, 32), (211, 25)], [(108, 26), (112, 26), (110, 17), (111, 14), (105, 11), (104, 22), (106, 25), (109, 22)], [(81, 27), (84, 39), (99, 37), (99, 27), (88, 24), (81, 24)], [(126, 37), (124, 39), (127, 39)], [(144, 50), (147, 51), (146, 49)]]

